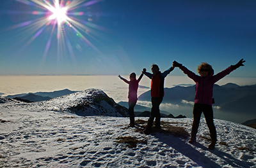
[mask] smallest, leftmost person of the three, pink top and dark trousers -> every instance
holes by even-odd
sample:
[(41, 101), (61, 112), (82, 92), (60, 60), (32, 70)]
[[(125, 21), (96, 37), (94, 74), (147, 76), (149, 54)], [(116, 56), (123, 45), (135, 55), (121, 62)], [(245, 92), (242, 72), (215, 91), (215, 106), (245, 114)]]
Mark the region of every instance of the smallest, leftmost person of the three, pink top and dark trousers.
[(134, 127), (134, 106), (136, 105), (136, 102), (138, 101), (138, 87), (139, 87), (139, 82), (141, 78), (143, 77), (143, 73), (141, 73), (140, 77), (138, 80), (136, 80), (136, 74), (131, 73), (130, 74), (130, 81), (126, 80), (125, 78), (122, 78), (120, 74), (118, 74), (118, 77), (123, 80), (125, 83), (129, 84), (129, 92), (128, 92), (128, 99), (129, 99), (129, 109), (128, 113), (130, 116), (130, 123), (129, 127)]

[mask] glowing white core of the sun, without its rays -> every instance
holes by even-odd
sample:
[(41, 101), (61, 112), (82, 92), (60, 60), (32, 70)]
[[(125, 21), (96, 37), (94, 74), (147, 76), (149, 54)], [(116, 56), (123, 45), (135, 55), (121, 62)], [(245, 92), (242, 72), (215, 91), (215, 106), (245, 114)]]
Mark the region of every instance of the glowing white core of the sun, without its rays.
[(49, 9), (52, 12), (52, 15), (49, 16), (49, 20), (57, 20), (58, 24), (63, 22), (67, 22), (67, 8), (61, 7), (60, 5), (56, 4), (56, 6), (52, 6)]

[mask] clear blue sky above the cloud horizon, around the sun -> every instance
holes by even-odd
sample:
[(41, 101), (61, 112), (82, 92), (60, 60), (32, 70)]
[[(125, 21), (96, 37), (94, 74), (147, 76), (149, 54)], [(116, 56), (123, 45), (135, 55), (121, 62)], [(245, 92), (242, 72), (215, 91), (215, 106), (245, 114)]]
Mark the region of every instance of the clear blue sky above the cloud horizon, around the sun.
[(65, 17), (54, 3), (1, 1), (0, 75), (140, 74), (173, 60), (218, 73), (244, 59), (229, 76), (256, 77), (255, 0), (65, 0)]

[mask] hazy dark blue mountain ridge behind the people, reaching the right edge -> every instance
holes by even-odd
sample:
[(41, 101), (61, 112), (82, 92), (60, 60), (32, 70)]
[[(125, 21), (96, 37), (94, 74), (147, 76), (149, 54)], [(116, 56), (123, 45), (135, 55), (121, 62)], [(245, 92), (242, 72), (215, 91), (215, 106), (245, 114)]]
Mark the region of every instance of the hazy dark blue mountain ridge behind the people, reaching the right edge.
[[(214, 85), (213, 97), (214, 106), (219, 106), (221, 110), (230, 113), (250, 113), (256, 112), (256, 85), (239, 87), (234, 83), (226, 85)], [(150, 101), (150, 90), (138, 97), (139, 101)], [(182, 104), (182, 100), (193, 102), (195, 99), (195, 85), (190, 87), (176, 86), (164, 88), (163, 102), (172, 104)]]

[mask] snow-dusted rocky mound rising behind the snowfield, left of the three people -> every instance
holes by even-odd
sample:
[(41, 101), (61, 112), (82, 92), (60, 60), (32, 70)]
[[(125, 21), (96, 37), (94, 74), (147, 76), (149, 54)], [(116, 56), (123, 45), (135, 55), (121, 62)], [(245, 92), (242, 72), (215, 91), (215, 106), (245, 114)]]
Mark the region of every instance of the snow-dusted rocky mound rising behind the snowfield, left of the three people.
[(116, 104), (102, 90), (88, 89), (34, 104), (53, 111), (68, 111), (81, 116), (128, 116), (128, 109)]

